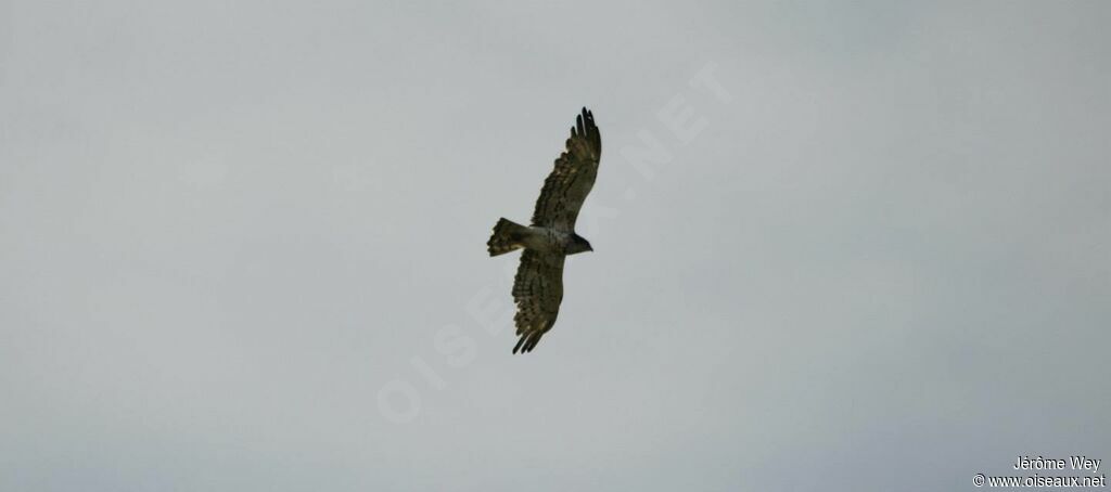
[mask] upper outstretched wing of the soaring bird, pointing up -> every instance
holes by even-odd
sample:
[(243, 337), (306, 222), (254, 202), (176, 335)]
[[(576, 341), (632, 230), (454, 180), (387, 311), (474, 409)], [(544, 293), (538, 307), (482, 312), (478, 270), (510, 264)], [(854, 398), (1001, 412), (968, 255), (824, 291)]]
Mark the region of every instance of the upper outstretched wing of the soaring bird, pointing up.
[(544, 180), (544, 188), (532, 212), (532, 224), (564, 231), (574, 230), (579, 209), (594, 185), (598, 161), (602, 157), (602, 134), (594, 116), (582, 109), (571, 128), (567, 150), (556, 159), (556, 169)]

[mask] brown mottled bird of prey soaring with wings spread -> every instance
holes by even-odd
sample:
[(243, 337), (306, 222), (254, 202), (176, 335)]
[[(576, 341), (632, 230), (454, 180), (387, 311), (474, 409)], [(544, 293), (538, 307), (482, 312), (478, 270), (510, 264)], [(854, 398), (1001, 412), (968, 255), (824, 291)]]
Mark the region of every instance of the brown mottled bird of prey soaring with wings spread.
[(513, 353), (531, 352), (556, 324), (563, 300), (563, 259), (593, 251), (590, 242), (574, 232), (574, 220), (594, 185), (601, 154), (602, 135), (594, 125), (594, 116), (583, 108), (571, 128), (565, 150), (556, 159), (556, 169), (540, 190), (532, 225), (502, 218), (493, 227), (493, 235), (487, 242), (491, 257), (524, 249), (513, 279), (517, 302), (513, 322), (520, 337)]

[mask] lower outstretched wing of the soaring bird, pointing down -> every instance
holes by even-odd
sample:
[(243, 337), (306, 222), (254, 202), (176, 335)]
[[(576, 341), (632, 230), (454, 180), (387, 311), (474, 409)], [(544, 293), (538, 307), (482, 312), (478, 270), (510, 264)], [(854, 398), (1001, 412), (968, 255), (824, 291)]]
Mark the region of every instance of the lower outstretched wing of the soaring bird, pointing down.
[(559, 304), (563, 301), (564, 258), (528, 249), (521, 254), (521, 265), (513, 279), (513, 301), (517, 302), (513, 322), (521, 339), (513, 353), (531, 352), (540, 337), (556, 324)]

